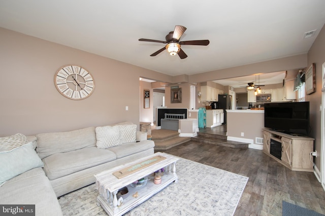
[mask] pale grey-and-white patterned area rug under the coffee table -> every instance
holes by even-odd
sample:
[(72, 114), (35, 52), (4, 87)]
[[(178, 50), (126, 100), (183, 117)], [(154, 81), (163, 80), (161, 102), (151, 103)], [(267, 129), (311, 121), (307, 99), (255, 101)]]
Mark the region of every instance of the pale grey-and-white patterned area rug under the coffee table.
[[(233, 215), (248, 177), (180, 158), (172, 183), (124, 215)], [(63, 215), (106, 215), (95, 184), (59, 199)]]

